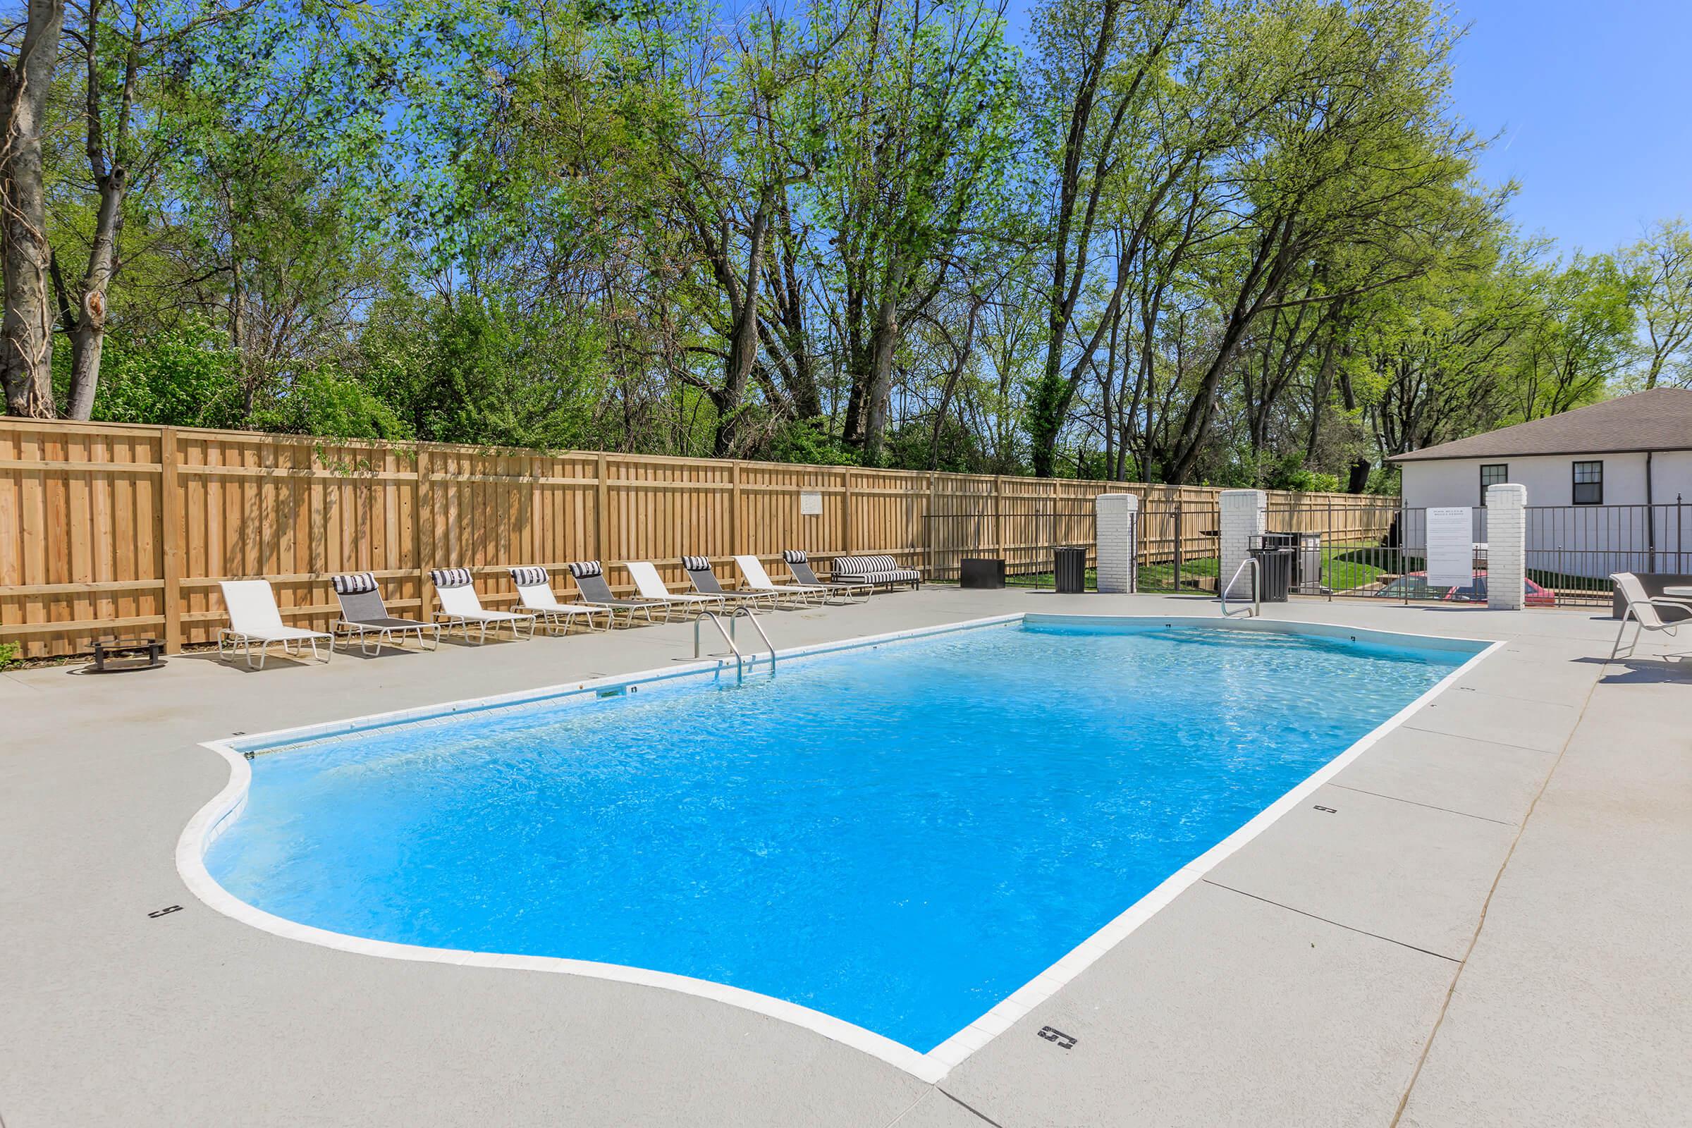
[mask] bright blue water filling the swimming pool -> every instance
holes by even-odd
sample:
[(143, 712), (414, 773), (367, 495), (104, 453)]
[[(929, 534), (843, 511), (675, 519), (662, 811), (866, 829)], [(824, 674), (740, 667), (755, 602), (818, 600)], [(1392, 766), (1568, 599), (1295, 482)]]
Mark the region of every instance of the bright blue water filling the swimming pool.
[(714, 979), (926, 1052), (1472, 653), (1030, 622), (376, 729), (257, 756), (206, 868), (321, 928)]

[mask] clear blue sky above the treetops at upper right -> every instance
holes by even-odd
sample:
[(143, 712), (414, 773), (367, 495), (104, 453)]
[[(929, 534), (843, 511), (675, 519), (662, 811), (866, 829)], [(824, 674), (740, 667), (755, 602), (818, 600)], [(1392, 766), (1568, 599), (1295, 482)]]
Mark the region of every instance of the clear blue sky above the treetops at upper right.
[[(1010, 0), (1010, 32), (1030, 0)], [(1692, 220), (1692, 0), (1457, 0), (1457, 112), (1489, 183), (1563, 250), (1611, 250), (1660, 218)]]

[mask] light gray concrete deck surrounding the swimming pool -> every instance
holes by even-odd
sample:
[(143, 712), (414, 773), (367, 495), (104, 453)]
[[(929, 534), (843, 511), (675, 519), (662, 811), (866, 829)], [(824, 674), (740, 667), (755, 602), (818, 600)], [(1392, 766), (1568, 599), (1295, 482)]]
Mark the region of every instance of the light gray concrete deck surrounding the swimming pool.
[[(931, 589), (766, 624), (785, 648), (1215, 609)], [(692, 654), (687, 624), (0, 675), (0, 1121), (1685, 1123), (1692, 661), (1646, 636), (1606, 663), (1614, 622), (1594, 611), (1266, 617), (1508, 644), (939, 1084), (673, 991), (286, 940), (183, 886), (178, 835), (227, 778), (201, 741), (663, 666)]]

